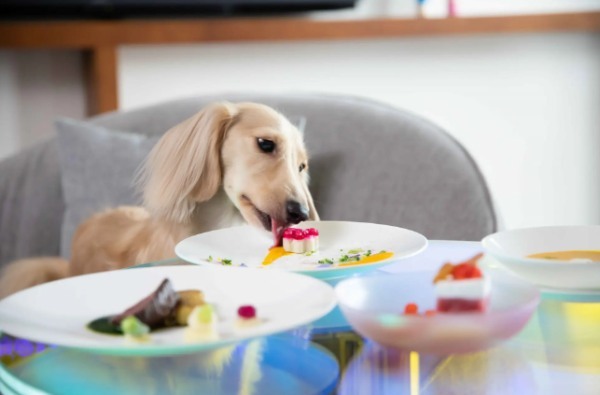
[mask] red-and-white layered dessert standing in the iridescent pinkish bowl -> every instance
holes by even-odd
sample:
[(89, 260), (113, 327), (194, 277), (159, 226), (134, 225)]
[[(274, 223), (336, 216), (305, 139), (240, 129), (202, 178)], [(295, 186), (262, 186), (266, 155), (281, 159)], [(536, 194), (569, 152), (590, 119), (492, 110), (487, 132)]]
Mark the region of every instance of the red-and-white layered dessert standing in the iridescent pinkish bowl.
[(477, 267), (478, 254), (458, 264), (446, 263), (433, 282), (437, 297), (437, 311), (442, 313), (485, 312), (490, 282)]

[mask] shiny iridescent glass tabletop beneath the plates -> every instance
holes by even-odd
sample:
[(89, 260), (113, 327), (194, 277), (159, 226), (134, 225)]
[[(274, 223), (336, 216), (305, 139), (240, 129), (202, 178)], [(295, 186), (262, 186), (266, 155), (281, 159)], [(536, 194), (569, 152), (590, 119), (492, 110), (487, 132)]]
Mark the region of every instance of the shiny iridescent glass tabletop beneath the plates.
[[(477, 242), (431, 241), (409, 259), (458, 260)], [(144, 266), (185, 264), (169, 260)], [(402, 261), (381, 269), (394, 272)], [(399, 290), (400, 292), (400, 290)], [(393, 297), (393, 295), (390, 295)], [(196, 354), (95, 355), (0, 338), (10, 394), (600, 394), (600, 296), (542, 293), (516, 336), (495, 348), (427, 355), (374, 343), (339, 309), (293, 331)]]

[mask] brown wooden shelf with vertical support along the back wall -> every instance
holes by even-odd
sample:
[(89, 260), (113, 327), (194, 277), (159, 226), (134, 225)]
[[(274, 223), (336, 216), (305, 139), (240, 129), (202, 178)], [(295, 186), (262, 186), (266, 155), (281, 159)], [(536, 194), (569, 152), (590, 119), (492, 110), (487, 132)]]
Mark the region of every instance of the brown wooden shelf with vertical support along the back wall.
[(271, 17), (0, 22), (0, 48), (84, 51), (92, 115), (118, 108), (117, 48), (122, 45), (554, 31), (600, 31), (600, 12), (446, 19)]

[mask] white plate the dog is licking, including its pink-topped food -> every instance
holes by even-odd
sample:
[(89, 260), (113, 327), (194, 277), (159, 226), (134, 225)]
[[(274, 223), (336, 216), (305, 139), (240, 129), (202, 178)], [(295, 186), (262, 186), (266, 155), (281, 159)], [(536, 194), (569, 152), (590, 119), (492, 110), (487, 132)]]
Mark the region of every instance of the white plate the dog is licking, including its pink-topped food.
[(198, 265), (281, 269), (329, 279), (415, 255), (427, 246), (427, 239), (394, 226), (320, 221), (288, 229), (283, 243), (272, 247), (268, 234), (240, 226), (192, 236), (177, 244), (175, 252)]

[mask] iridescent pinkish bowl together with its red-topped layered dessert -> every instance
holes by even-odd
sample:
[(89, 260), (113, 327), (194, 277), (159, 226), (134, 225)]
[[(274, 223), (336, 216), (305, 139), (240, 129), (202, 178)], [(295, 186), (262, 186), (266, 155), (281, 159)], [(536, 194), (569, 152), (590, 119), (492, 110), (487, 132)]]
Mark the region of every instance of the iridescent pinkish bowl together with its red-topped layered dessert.
[[(423, 254), (412, 259), (418, 269), (398, 265), (395, 274), (342, 281), (338, 303), (357, 332), (385, 346), (443, 355), (481, 351), (525, 326), (539, 292), (504, 270), (477, 276), (475, 258), (451, 262), (449, 274), (447, 262)], [(440, 287), (439, 278), (448, 283)]]

